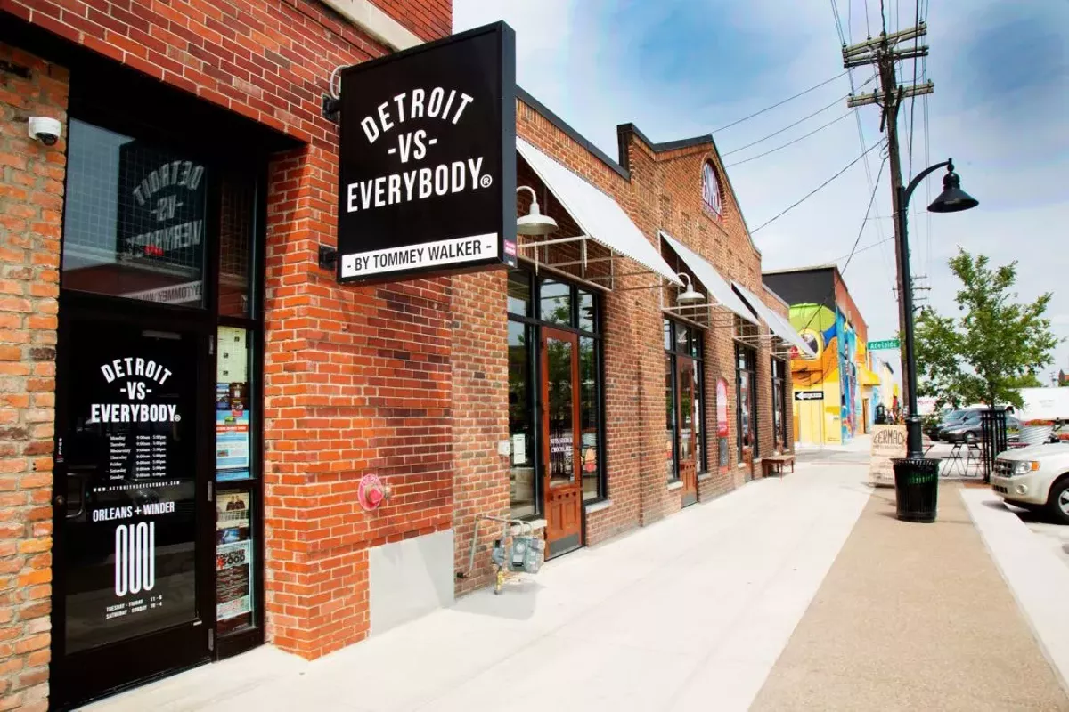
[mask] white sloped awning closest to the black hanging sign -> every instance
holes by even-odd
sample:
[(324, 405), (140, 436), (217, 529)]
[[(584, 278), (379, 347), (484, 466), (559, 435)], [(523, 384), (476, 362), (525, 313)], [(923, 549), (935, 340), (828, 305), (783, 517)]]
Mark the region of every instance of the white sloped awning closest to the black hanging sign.
[(629, 257), (672, 284), (682, 284), (616, 201), (523, 139), (516, 139), (516, 149), (587, 237), (614, 255)]

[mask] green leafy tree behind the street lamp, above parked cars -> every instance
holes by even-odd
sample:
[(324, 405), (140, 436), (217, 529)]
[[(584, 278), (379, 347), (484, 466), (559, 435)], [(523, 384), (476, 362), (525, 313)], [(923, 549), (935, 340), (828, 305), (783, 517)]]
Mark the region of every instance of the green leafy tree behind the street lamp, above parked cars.
[(918, 394), (939, 406), (973, 402), (1024, 404), (1018, 389), (1038, 383), (1037, 371), (1052, 363), (1058, 339), (1043, 317), (1051, 294), (1029, 304), (1017, 301), (1017, 262), (990, 267), (985, 255), (958, 248), (949, 262), (961, 281), (955, 319), (926, 308), (917, 318)]

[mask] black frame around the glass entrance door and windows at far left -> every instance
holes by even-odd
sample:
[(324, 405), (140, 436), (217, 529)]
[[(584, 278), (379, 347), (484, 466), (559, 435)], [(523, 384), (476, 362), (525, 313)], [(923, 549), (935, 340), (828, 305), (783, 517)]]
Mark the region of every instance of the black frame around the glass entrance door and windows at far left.
[[(65, 59), (65, 58), (64, 58)], [(153, 302), (130, 300), (120, 297), (95, 295), (62, 288), (62, 270), (60, 271), (61, 291), (59, 323), (60, 333), (57, 345), (57, 424), (64, 424), (67, 416), (66, 399), (63, 392), (62, 374), (67, 369), (69, 359), (77, 358), (77, 345), (69, 343), (68, 325), (72, 319), (88, 318), (91, 320), (107, 319), (115, 322), (154, 328), (161, 331), (183, 331), (195, 333), (198, 339), (198, 505), (201, 506), (211, 487), (212, 501), (203, 505), (203, 521), (198, 522), (198, 612), (203, 629), (203, 646), (196, 655), (188, 654), (188, 646), (183, 648), (181, 642), (172, 644), (160, 640), (153, 646), (153, 654), (158, 659), (165, 655), (174, 658), (173, 665), (139, 679), (130, 680), (119, 686), (97, 686), (88, 696), (66, 689), (61, 682), (63, 665), (63, 647), (65, 640), (65, 591), (60, 577), (52, 583), (52, 687), (51, 706), (62, 709), (62, 705), (77, 705), (91, 698), (99, 698), (126, 687), (137, 686), (157, 677), (166, 677), (186, 667), (195, 666), (212, 660), (220, 660), (250, 648), (262, 645), (265, 631), (264, 611), (264, 487), (263, 487), (263, 358), (264, 358), (264, 274), (266, 264), (266, 191), (267, 163), (277, 151), (292, 148), (297, 143), (274, 135), (264, 127), (247, 122), (230, 112), (210, 107), (205, 102), (186, 96), (158, 82), (145, 83), (122, 67), (113, 67), (105, 63), (98, 65), (92, 57), (86, 57), (81, 64), (74, 63), (72, 73), (72, 97), (68, 116), (90, 124), (118, 130), (127, 136), (151, 140), (161, 148), (181, 152), (189, 158), (199, 159), (203, 164), (214, 169), (216, 176), (241, 175), (242, 179), (254, 185), (253, 213), (250, 234), (249, 258), (249, 310), (245, 316), (228, 316), (219, 314), (219, 275), (220, 275), (220, 217), (221, 217), (221, 179), (207, 178), (207, 203), (205, 206), (204, 258), (202, 267), (203, 302), (201, 307), (173, 306)], [(61, 60), (62, 61), (62, 60)], [(90, 68), (90, 67), (93, 68)], [(143, 85), (142, 85), (143, 84)], [(139, 112), (131, 111), (128, 105), (114, 101), (115, 93), (128, 92), (131, 86), (141, 85), (143, 95), (140, 101), (158, 107), (170, 107), (172, 112), (153, 112), (152, 125), (143, 123)], [(203, 116), (192, 125), (183, 123), (173, 116)], [(161, 116), (161, 118), (160, 118)], [(245, 126), (236, 130), (236, 125)], [(222, 130), (220, 127), (229, 127)], [(68, 133), (69, 135), (69, 133)], [(69, 178), (69, 173), (68, 173)], [(235, 327), (246, 330), (247, 345), (252, 350), (249, 363), (248, 386), (249, 408), (251, 410), (249, 427), (250, 479), (235, 482), (216, 482), (215, 480), (215, 380), (216, 380), (216, 335), (219, 327)], [(61, 436), (57, 428), (58, 439)], [(60, 450), (56, 450), (57, 455)], [(62, 523), (63, 515), (56, 511), (55, 497), (65, 493), (65, 470), (62, 462), (57, 462), (53, 474), (53, 576), (60, 572), (62, 556)], [(61, 487), (62, 486), (62, 487)], [(215, 495), (220, 486), (224, 489), (244, 487), (251, 492), (251, 536), (253, 566), (250, 586), (253, 596), (252, 624), (231, 634), (218, 637), (216, 620), (216, 573), (215, 573)], [(198, 511), (198, 515), (200, 511)], [(203, 550), (201, 547), (203, 545)], [(150, 634), (155, 635), (155, 634)], [(123, 645), (123, 643), (117, 644)], [(200, 645), (198, 643), (197, 645)], [(185, 658), (180, 655), (185, 650)], [(137, 656), (128, 660), (135, 661)], [(144, 658), (144, 655), (142, 655)], [(141, 661), (137, 661), (141, 662)]]

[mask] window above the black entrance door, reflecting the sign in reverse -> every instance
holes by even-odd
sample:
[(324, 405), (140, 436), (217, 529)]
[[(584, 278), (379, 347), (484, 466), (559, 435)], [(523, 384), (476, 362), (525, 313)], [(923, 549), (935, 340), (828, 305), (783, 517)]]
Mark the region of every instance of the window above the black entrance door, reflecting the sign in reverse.
[[(202, 306), (214, 176), (189, 156), (77, 118), (69, 131), (63, 288)], [(247, 289), (247, 264), (244, 276)]]

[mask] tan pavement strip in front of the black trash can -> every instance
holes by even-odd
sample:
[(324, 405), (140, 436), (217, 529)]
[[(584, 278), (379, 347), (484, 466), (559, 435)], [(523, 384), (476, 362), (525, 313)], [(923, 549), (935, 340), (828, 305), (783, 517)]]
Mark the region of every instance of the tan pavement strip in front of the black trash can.
[(1069, 710), (960, 492), (908, 524), (873, 491), (754, 710)]

